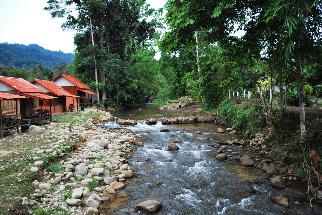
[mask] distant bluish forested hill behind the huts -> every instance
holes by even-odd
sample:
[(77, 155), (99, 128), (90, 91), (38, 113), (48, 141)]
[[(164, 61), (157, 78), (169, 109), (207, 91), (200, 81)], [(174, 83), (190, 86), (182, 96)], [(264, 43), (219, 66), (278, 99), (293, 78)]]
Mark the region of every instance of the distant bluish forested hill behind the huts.
[[(61, 60), (56, 60), (64, 58)], [(62, 51), (51, 51), (44, 49), (37, 44), (30, 44), (28, 46), (23, 44), (0, 43), (0, 64), (7, 67), (22, 68), (32, 66), (35, 64), (56, 60), (49, 63), (44, 63), (43, 66), (52, 69), (66, 62), (68, 65), (72, 64), (74, 54), (64, 53)]]

